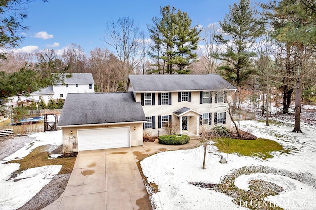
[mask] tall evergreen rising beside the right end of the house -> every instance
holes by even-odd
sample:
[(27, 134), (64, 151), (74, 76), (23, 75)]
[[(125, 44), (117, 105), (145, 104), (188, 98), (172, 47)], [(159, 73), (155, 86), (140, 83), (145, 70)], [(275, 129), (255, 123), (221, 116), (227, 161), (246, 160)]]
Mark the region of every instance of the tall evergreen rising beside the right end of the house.
[(229, 6), (229, 13), (219, 25), (222, 33), (217, 36), (217, 41), (226, 47), (226, 51), (220, 54), (225, 64), (219, 69), (224, 75), (234, 76), (233, 83), (239, 90), (241, 82), (246, 81), (255, 71), (251, 67), (251, 58), (256, 53), (251, 48), (255, 39), (264, 32), (264, 22), (258, 16), (258, 11), (250, 5), (250, 0), (240, 0), (239, 4)]

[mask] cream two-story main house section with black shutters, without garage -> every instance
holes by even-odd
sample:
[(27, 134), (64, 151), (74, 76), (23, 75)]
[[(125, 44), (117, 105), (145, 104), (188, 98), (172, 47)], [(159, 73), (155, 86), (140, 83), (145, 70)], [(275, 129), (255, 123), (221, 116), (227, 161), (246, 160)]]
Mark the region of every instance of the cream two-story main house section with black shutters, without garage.
[(165, 134), (164, 126), (177, 126), (178, 134), (190, 136), (200, 133), (199, 125), (229, 129), (226, 101), (235, 90), (216, 74), (130, 75), (127, 82), (127, 91), (143, 107), (144, 129), (154, 136)]

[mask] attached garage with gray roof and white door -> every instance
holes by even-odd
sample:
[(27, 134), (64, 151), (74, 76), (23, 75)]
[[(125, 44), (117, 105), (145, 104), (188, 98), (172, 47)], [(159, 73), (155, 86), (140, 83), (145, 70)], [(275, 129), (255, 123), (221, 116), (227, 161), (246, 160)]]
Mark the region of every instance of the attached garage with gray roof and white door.
[(72, 153), (142, 146), (144, 122), (132, 92), (69, 93), (58, 126), (64, 153)]

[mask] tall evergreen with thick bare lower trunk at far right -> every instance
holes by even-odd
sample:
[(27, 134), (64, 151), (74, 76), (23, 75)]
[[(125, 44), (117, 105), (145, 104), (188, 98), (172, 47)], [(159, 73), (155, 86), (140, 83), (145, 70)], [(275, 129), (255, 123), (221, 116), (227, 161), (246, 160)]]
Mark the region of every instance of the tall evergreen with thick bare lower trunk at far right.
[[(312, 4), (311, 4), (312, 5)], [(313, 69), (316, 44), (315, 11), (306, 6), (302, 0), (281, 0), (272, 6), (274, 18), (274, 31), (272, 33), (276, 41), (284, 43), (286, 48), (285, 78), (291, 78), (295, 83), (295, 124), (293, 132), (302, 132), (300, 126), (302, 86), (305, 76)], [(286, 84), (290, 85), (290, 84)]]

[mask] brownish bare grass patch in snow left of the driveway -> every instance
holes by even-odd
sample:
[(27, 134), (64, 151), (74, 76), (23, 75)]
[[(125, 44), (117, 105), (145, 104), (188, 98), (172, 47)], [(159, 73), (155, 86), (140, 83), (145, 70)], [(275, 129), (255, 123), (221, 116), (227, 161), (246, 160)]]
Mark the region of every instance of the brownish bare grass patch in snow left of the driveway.
[(63, 158), (49, 158), (49, 152), (47, 152), (49, 145), (36, 147), (29, 155), (21, 160), (12, 160), (7, 163), (19, 163), (20, 169), (17, 173), (29, 168), (35, 168), (47, 165), (62, 165), (59, 174), (71, 173), (75, 164), (76, 157), (63, 157)]

